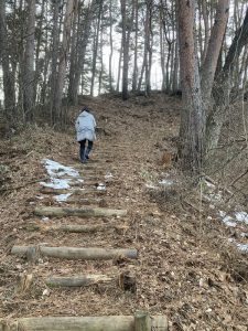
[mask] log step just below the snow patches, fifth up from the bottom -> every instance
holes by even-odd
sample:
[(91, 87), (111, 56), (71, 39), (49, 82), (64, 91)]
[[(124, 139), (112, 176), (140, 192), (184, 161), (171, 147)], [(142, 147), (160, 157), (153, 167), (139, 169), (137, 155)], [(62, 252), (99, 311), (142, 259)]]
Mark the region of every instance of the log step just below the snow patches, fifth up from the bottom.
[(108, 216), (125, 216), (127, 210), (110, 210), (100, 207), (84, 207), (84, 209), (72, 209), (72, 207), (53, 207), (44, 206), (36, 207), (34, 213), (39, 216), (78, 216), (78, 217), (108, 217)]

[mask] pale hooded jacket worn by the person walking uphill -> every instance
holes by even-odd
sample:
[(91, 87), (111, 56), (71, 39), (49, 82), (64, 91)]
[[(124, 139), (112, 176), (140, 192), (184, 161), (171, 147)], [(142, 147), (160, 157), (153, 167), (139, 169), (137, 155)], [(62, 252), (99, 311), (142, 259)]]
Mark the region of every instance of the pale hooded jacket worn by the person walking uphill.
[(94, 141), (96, 139), (96, 120), (90, 113), (86, 110), (82, 111), (80, 115), (77, 117), (75, 126), (77, 131), (77, 141), (84, 139)]

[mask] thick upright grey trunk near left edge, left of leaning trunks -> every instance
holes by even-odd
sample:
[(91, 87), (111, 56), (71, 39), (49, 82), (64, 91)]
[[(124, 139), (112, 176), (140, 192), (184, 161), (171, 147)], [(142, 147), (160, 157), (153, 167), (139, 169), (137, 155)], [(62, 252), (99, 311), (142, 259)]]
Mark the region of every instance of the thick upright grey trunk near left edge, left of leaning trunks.
[(28, 1), (26, 38), (23, 67), (23, 110), (25, 120), (33, 119), (34, 111), (34, 32), (35, 0)]

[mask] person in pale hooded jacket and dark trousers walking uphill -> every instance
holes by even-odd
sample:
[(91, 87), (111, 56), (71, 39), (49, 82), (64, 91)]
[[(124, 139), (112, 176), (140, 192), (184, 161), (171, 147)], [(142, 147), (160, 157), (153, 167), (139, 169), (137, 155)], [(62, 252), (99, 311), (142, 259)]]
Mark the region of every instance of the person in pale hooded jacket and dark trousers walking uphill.
[[(87, 107), (83, 108), (83, 111), (77, 117), (75, 126), (77, 131), (77, 141), (80, 143), (80, 162), (86, 163), (89, 158), (89, 152), (93, 149), (93, 141), (96, 139), (96, 120)], [(88, 141), (87, 147), (86, 140)]]

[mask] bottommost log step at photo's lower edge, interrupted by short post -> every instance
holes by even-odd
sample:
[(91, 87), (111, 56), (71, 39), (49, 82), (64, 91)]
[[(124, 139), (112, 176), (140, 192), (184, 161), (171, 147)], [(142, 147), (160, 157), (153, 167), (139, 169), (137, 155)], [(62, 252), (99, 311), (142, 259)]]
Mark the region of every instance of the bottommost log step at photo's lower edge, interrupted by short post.
[[(137, 331), (133, 316), (31, 317), (0, 319), (0, 331)], [(151, 329), (168, 331), (164, 316), (151, 317)], [(147, 330), (145, 330), (147, 331)]]

